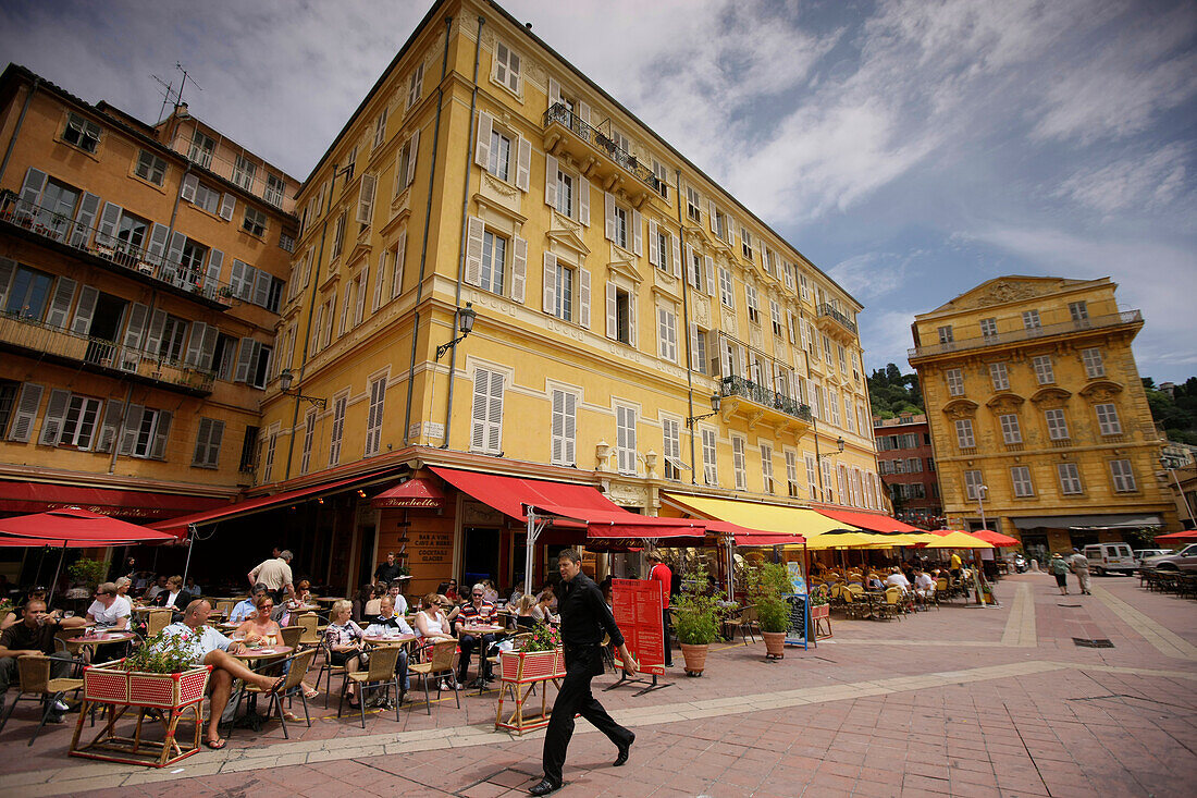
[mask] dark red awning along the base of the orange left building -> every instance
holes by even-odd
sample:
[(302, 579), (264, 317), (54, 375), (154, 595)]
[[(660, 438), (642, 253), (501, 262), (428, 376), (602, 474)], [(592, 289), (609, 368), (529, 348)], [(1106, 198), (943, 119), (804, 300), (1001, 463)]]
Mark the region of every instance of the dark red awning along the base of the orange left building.
[(79, 488), (42, 482), (0, 482), (0, 512), (42, 513), (65, 507), (81, 507), (101, 515), (165, 519), (198, 513), (224, 504), (211, 496), (178, 496), (144, 490)]

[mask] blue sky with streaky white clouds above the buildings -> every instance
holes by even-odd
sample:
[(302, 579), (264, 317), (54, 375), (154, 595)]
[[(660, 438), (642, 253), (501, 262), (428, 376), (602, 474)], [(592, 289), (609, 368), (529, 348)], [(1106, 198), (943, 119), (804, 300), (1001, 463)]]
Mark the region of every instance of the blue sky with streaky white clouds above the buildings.
[[(1003, 274), (1110, 277), (1197, 374), (1197, 4), (509, 0), (865, 306), (865, 368)], [(162, 86), (303, 180), (430, 0), (0, 4), (0, 62), (153, 122)]]

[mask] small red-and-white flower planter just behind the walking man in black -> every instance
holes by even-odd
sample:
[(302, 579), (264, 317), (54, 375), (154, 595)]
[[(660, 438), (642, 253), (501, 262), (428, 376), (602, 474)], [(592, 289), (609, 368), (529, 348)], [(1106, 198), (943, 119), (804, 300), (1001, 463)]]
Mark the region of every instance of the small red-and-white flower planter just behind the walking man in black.
[[(499, 707), (494, 714), (494, 727), (523, 734), (548, 725), (548, 682), (560, 688), (565, 678), (565, 652), (561, 649), (561, 633), (555, 627), (537, 623), (531, 633), (521, 635), (518, 648), (499, 652)], [(528, 714), (527, 702), (533, 690), (541, 684), (540, 712)], [(515, 708), (506, 717), (503, 703), (510, 696)]]

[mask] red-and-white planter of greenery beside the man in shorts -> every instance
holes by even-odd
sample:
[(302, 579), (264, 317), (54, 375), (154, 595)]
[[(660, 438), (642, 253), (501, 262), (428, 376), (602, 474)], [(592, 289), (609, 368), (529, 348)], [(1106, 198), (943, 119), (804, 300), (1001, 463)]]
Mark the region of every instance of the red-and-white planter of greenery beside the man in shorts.
[[(160, 768), (199, 751), (200, 707), (212, 666), (192, 664), (193, 634), (158, 634), (126, 659), (85, 669), (83, 705), (71, 740), (71, 755)], [(80, 745), (84, 717), (97, 703), (109, 707), (108, 721), (95, 739)], [(136, 727), (132, 737), (122, 737), (115, 727), (129, 709), (136, 709)], [(162, 723), (165, 732), (162, 739), (144, 737), (147, 715), (156, 715)], [(177, 736), (178, 723), (184, 715), (194, 718), (194, 739)]]

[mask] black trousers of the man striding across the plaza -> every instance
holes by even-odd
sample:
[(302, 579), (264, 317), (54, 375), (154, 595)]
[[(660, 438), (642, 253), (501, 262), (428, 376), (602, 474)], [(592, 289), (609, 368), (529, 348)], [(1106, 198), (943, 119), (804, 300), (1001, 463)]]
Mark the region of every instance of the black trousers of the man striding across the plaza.
[(590, 693), (590, 679), (602, 673), (602, 651), (594, 646), (570, 646), (565, 649), (565, 678), (553, 702), (553, 714), (545, 733), (545, 778), (560, 784), (565, 751), (573, 736), (573, 715), (581, 714), (615, 745), (624, 745), (632, 732), (607, 714)]

